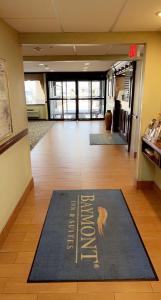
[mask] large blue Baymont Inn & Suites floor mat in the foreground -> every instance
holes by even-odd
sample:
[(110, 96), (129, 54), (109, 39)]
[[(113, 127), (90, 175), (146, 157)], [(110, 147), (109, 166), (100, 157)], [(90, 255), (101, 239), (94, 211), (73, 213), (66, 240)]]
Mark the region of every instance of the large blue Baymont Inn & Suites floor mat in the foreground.
[(53, 193), (28, 282), (157, 280), (121, 190)]

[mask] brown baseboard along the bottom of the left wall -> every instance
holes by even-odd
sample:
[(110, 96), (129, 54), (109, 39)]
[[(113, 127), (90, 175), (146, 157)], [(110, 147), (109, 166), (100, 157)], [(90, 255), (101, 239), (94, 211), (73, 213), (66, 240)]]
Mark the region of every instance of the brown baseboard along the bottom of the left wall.
[(12, 226), (12, 224), (14, 223), (22, 205), (24, 204), (29, 192), (31, 191), (31, 189), (33, 188), (34, 186), (34, 181), (33, 181), (33, 178), (30, 180), (29, 184), (27, 185), (23, 195), (21, 196), (20, 200), (18, 201), (14, 211), (12, 212), (7, 224), (5, 225), (5, 227), (3, 228), (3, 230), (1, 231), (0, 233), (0, 246), (1, 244), (3, 244), (3, 242), (5, 241), (8, 233), (9, 233), (9, 230)]

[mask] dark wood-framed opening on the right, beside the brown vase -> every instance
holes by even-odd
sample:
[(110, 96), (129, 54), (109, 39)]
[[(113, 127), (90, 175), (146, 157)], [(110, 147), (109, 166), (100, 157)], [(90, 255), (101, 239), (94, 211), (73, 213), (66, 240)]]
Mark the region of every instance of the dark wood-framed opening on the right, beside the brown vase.
[(107, 109), (113, 112), (112, 129), (127, 143), (128, 152), (130, 152), (134, 117), (135, 71), (135, 61), (124, 61), (114, 64), (107, 75)]

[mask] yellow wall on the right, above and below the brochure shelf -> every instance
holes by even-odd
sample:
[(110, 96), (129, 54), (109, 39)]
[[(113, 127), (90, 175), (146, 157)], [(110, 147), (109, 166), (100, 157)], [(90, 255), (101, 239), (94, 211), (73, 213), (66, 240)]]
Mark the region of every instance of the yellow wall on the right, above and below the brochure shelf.
[[(161, 34), (155, 34), (147, 43), (145, 57), (144, 87), (141, 108), (141, 132), (143, 135), (150, 120), (161, 112)], [(161, 172), (147, 161), (139, 145), (138, 180), (154, 180), (161, 186)]]

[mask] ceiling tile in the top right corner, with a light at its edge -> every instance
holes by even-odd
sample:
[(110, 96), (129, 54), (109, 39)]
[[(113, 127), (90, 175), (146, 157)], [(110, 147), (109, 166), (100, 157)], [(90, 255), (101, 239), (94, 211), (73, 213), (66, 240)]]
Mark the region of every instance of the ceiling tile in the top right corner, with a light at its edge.
[(155, 31), (161, 28), (161, 0), (128, 0), (113, 31)]

